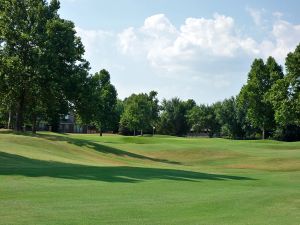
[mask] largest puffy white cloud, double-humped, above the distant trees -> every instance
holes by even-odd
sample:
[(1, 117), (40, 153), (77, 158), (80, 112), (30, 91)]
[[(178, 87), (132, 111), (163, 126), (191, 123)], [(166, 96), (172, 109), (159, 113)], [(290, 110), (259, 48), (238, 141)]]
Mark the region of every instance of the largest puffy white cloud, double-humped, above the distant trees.
[(234, 19), (219, 14), (213, 19), (187, 18), (179, 29), (165, 15), (154, 15), (142, 27), (120, 33), (119, 45), (123, 54), (141, 57), (143, 52), (150, 65), (169, 72), (258, 53), (252, 38), (238, 34)]

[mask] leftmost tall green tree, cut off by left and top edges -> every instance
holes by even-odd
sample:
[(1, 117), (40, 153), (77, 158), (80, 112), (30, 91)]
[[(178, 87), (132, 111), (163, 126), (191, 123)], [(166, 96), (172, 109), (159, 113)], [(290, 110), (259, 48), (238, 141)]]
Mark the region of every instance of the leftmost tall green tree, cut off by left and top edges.
[(2, 89), (2, 98), (8, 107), (15, 105), (15, 127), (21, 130), (26, 103), (34, 98), (30, 89), (36, 88), (38, 78), (36, 65), (45, 27), (39, 16), (44, 17), (46, 4), (37, 0), (2, 0), (0, 7), (1, 86), (7, 88), (6, 93)]

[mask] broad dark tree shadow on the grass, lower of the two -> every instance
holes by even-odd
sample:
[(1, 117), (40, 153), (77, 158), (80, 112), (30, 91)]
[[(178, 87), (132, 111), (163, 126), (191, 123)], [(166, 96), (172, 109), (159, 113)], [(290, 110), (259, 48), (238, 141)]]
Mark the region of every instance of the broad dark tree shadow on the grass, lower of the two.
[(242, 176), (199, 173), (175, 169), (77, 165), (30, 159), (4, 152), (0, 152), (0, 175), (53, 177), (73, 180), (84, 179), (124, 183), (136, 183), (153, 179), (194, 182), (201, 180), (254, 180), (252, 178)]

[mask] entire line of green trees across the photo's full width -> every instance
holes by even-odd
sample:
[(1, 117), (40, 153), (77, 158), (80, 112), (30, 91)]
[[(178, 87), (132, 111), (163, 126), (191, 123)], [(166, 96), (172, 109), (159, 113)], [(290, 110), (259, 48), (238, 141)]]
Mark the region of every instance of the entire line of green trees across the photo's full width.
[(300, 45), (287, 55), (285, 71), (273, 57), (255, 59), (240, 93), (224, 101), (159, 102), (155, 91), (120, 100), (107, 70), (89, 73), (74, 23), (59, 8), (58, 0), (0, 0), (1, 126), (36, 132), (43, 121), (59, 131), (72, 113), (100, 134), (300, 140)]

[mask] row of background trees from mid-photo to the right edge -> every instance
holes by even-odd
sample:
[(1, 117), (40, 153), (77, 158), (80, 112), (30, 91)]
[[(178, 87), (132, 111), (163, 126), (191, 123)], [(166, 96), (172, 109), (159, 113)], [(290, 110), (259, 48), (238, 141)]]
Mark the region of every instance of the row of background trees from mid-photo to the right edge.
[(255, 59), (239, 94), (224, 101), (197, 105), (192, 99), (173, 98), (158, 104), (150, 97), (153, 93), (125, 99), (121, 133), (133, 129), (151, 132), (153, 126), (160, 134), (179, 136), (206, 133), (232, 139), (300, 140), (300, 45), (287, 55), (285, 73), (271, 56), (266, 62)]

